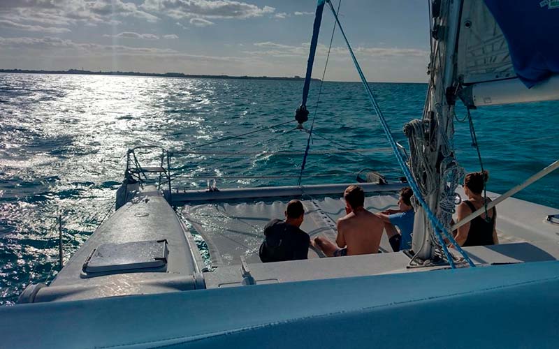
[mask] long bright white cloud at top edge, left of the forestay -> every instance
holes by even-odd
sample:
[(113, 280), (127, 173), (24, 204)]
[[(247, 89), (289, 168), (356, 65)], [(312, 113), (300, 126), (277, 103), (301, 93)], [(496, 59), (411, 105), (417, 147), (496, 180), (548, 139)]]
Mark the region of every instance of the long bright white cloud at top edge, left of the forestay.
[(270, 6), (259, 7), (251, 3), (231, 0), (145, 0), (140, 6), (152, 13), (164, 13), (169, 17), (237, 18), (261, 17), (274, 13)]

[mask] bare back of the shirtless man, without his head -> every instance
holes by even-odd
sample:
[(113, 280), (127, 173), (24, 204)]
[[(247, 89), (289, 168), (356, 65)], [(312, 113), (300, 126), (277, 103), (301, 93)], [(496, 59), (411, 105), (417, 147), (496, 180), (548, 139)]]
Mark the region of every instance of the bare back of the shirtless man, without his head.
[(347, 255), (377, 253), (383, 229), (376, 214), (359, 207), (337, 220), (336, 244), (347, 246)]

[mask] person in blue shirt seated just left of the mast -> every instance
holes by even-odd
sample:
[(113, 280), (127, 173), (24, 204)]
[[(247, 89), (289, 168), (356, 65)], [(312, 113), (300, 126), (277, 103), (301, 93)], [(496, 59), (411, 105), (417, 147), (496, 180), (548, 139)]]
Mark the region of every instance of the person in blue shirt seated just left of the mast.
[[(384, 223), (384, 230), (389, 237), (390, 246), (394, 252), (412, 248), (412, 230), (414, 229), (414, 207), (412, 207), (414, 192), (409, 186), (400, 190), (398, 209), (387, 209), (377, 214)], [(400, 232), (395, 227), (400, 229)]]

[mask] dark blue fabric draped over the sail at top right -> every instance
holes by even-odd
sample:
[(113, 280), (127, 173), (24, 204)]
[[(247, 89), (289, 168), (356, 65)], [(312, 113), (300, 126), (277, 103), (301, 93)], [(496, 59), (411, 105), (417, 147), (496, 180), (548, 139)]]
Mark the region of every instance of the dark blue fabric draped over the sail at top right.
[(485, 0), (526, 87), (559, 73), (559, 1)]

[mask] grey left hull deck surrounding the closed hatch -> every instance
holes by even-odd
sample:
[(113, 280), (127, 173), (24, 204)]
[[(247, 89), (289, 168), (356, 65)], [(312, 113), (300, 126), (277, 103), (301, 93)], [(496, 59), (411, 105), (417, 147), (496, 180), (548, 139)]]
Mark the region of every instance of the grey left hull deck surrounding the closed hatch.
[[(48, 288), (39, 290), (36, 302), (91, 299), (187, 290), (193, 274), (201, 272), (190, 251), (191, 244), (179, 218), (158, 191), (140, 193), (103, 222), (66, 263)], [(167, 240), (166, 272), (122, 271), (82, 278), (82, 265), (101, 244)], [(193, 246), (196, 248), (195, 246)], [(180, 282), (173, 281), (179, 277)]]

